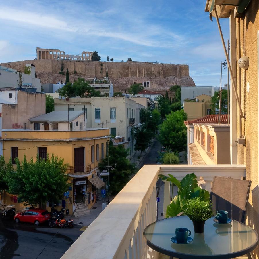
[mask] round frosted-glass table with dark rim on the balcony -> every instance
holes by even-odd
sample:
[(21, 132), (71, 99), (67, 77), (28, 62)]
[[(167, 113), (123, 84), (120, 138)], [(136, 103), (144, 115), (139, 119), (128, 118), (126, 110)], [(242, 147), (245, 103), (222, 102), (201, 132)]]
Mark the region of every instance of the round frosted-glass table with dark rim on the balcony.
[[(204, 233), (194, 233), (188, 216), (178, 216), (158, 220), (144, 230), (147, 245), (152, 249), (178, 258), (234, 258), (248, 254), (258, 243), (257, 233), (249, 226), (232, 220), (229, 224), (218, 224), (215, 217), (205, 222)], [(175, 244), (175, 228), (185, 227), (192, 233), (189, 244)]]

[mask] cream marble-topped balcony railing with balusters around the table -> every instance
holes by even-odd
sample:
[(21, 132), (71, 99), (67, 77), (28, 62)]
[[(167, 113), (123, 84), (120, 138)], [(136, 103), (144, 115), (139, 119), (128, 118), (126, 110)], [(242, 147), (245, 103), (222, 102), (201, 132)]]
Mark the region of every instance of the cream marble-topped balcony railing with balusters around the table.
[[(245, 168), (244, 165), (144, 165), (62, 258), (83, 259), (85, 255), (94, 259), (158, 258), (158, 253), (143, 238), (144, 228), (156, 221), (158, 174), (172, 174), (181, 180), (194, 172), (197, 178), (203, 177), (205, 188), (210, 191), (214, 176), (241, 179), (246, 176)], [(164, 215), (170, 199), (170, 183), (165, 181)]]

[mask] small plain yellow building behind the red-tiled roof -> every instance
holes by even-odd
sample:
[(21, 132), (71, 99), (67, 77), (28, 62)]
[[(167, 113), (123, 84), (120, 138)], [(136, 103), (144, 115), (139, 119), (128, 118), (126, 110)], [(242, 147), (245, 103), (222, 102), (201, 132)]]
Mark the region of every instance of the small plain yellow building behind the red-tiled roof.
[(201, 94), (195, 99), (183, 103), (183, 110), (187, 113), (188, 120), (195, 120), (211, 114), (211, 97)]

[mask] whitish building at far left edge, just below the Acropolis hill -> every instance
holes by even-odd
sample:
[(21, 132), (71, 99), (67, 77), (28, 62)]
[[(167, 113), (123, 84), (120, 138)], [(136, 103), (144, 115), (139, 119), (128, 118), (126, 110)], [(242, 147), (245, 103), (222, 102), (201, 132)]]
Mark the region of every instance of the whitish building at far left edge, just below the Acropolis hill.
[[(35, 77), (35, 66), (32, 64), (26, 64), (26, 67), (28, 67), (28, 70), (30, 71), (30, 74), (24, 74), (22, 75), (22, 87), (36, 87), (36, 91), (41, 91), (41, 83), (40, 79)], [(0, 66), (0, 88), (3, 87), (19, 87), (19, 72), (15, 69), (7, 68), (5, 66)], [(36, 92), (34, 91), (34, 92)]]

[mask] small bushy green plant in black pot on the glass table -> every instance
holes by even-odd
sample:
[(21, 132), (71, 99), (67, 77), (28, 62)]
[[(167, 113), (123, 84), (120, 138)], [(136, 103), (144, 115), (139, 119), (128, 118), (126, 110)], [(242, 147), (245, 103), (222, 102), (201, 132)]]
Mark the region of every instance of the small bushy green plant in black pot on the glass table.
[(203, 233), (205, 221), (212, 217), (211, 201), (203, 201), (200, 197), (190, 199), (185, 207), (184, 214), (192, 220), (194, 232)]

